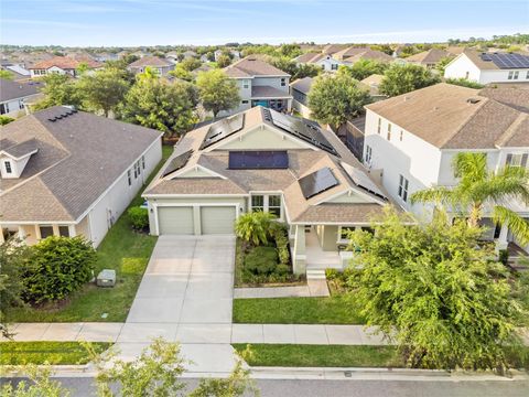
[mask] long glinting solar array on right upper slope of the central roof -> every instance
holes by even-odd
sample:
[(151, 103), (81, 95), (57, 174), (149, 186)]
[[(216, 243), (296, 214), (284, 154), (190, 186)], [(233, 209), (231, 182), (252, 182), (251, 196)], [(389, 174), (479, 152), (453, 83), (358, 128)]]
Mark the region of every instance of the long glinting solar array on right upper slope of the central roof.
[(314, 144), (316, 148), (339, 157), (336, 149), (334, 149), (333, 146), (325, 139), (317, 124), (311, 122), (310, 120), (287, 116), (278, 111), (270, 111), (269, 109), (263, 109), (263, 111), (264, 119), (273, 122), (276, 127), (279, 127), (294, 137)]

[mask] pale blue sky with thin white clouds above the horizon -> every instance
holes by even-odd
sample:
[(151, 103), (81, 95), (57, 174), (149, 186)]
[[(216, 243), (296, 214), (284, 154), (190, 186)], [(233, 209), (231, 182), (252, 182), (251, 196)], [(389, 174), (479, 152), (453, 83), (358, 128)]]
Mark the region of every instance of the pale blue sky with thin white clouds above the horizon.
[(404, 43), (529, 32), (529, 0), (0, 0), (0, 43)]

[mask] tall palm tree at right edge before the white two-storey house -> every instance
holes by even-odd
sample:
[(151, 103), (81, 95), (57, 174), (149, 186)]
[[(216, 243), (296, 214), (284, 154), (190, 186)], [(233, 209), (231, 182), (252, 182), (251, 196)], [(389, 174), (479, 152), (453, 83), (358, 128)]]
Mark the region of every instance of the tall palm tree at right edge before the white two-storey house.
[(457, 153), (452, 168), (460, 180), (455, 187), (435, 186), (411, 195), (411, 202), (433, 202), (450, 206), (477, 226), (485, 204), (492, 204), (492, 217), (507, 226), (521, 244), (529, 244), (529, 223), (505, 204), (521, 200), (529, 204), (529, 172), (522, 167), (505, 167), (498, 172), (487, 169), (484, 153)]

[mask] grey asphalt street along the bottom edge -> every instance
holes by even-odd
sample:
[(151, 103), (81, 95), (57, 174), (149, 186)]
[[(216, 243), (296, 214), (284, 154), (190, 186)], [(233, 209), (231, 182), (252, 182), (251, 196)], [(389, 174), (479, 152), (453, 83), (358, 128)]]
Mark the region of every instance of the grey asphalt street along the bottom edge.
[[(56, 378), (73, 396), (95, 396), (88, 377)], [(6, 379), (2, 379), (6, 382)], [(196, 379), (184, 379), (193, 388)], [(259, 379), (262, 397), (528, 397), (528, 380), (283, 380)]]

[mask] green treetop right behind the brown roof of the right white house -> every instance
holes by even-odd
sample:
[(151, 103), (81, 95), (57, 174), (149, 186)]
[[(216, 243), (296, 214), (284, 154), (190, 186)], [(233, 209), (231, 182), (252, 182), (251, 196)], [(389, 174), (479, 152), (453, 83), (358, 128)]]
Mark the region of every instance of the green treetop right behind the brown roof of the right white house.
[(393, 64), (385, 72), (378, 90), (391, 97), (424, 88), (440, 82), (439, 76), (425, 67), (413, 64)]

